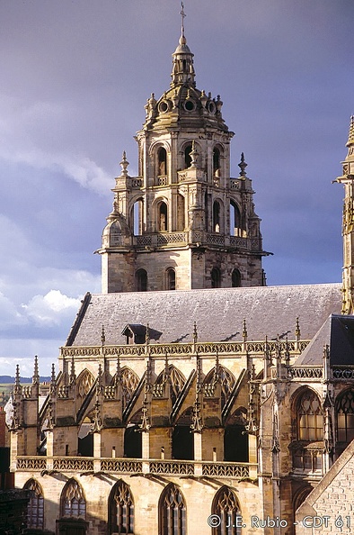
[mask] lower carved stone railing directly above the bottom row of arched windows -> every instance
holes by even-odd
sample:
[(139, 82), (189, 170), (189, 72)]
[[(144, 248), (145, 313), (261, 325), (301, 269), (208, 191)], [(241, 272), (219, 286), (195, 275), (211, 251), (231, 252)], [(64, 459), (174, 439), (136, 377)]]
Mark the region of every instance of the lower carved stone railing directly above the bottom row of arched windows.
[(214, 461), (136, 459), (136, 458), (83, 458), (83, 457), (18, 457), (17, 471), (76, 472), (85, 474), (155, 474), (168, 476), (206, 476), (233, 479), (255, 479), (257, 465)]

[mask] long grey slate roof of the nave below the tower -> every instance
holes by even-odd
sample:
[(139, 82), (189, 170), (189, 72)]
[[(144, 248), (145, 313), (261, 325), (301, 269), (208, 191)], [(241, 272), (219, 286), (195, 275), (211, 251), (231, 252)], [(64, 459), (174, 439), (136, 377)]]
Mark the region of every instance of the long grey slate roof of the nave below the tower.
[(301, 338), (309, 340), (330, 313), (340, 312), (340, 284), (87, 294), (66, 345), (100, 345), (102, 325), (107, 345), (125, 344), (127, 323), (148, 323), (162, 332), (160, 343), (191, 341), (193, 322), (200, 342), (242, 340), (243, 318), (248, 340), (287, 333), (294, 339), (296, 316)]

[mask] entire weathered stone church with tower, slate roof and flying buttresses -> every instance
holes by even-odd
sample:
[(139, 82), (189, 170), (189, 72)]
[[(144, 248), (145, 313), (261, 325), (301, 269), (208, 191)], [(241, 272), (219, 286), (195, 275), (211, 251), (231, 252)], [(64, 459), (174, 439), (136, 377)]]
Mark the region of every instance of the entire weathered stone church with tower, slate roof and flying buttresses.
[(32, 385), (17, 370), (11, 468), (32, 530), (293, 535), (354, 438), (342, 288), (265, 286), (246, 164), (230, 178), (233, 133), (192, 58), (182, 26), (138, 177), (123, 154), (102, 294), (85, 295), (43, 403), (37, 361)]

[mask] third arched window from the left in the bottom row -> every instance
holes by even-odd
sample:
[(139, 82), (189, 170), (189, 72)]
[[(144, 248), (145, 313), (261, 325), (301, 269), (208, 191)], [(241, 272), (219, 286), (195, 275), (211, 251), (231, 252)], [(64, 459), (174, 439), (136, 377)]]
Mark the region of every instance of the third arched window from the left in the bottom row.
[(109, 533), (134, 533), (134, 500), (122, 480), (113, 486), (109, 499)]

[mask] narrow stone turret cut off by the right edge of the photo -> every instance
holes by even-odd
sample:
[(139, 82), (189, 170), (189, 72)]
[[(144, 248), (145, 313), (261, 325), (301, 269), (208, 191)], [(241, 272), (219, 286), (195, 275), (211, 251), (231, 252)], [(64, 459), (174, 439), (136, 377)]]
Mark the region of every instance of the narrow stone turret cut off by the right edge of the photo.
[(347, 158), (342, 162), (343, 175), (335, 182), (344, 186), (343, 202), (343, 302), (341, 313), (354, 313), (354, 116), (350, 117)]

